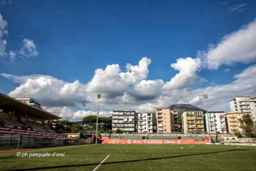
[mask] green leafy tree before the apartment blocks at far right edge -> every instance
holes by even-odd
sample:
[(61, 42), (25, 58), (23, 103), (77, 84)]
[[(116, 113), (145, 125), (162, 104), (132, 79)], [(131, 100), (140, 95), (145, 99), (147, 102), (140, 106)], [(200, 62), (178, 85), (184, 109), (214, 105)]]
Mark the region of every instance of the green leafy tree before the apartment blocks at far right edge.
[(242, 118), (238, 119), (240, 122), (240, 128), (245, 132), (246, 137), (253, 137), (253, 120), (249, 114), (245, 114)]

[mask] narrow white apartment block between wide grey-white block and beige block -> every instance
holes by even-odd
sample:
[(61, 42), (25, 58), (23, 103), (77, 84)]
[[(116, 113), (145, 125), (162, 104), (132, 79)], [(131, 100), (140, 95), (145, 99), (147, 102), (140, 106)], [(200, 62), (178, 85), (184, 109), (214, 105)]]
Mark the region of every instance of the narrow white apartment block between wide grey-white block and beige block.
[(153, 133), (153, 120), (156, 117), (153, 113), (138, 113), (138, 132)]

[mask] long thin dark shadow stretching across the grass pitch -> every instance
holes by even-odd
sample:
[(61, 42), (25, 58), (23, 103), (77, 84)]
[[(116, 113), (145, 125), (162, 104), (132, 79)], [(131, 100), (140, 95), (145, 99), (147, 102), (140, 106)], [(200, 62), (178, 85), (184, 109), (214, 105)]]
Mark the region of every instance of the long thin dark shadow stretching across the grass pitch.
[[(115, 163), (130, 163), (130, 162), (147, 161), (147, 160), (159, 160), (159, 159), (166, 159), (166, 158), (186, 157), (186, 156), (198, 156), (198, 155), (202, 155), (202, 154), (214, 154), (214, 153), (223, 153), (223, 152), (231, 152), (231, 151), (245, 151), (245, 149), (225, 150), (225, 151), (210, 152), (210, 153), (199, 153), (199, 154), (185, 154), (185, 155), (169, 156), (169, 157), (145, 158), (145, 159), (138, 159), (138, 160), (113, 161), (113, 162), (102, 163), (102, 165), (105, 165), (105, 164), (115, 164)], [(58, 166), (50, 166), (50, 167), (37, 167), (37, 168), (6, 170), (6, 171), (45, 170), (45, 169), (54, 169), (54, 168), (81, 167), (81, 166), (89, 166), (89, 165), (97, 165), (97, 164), (99, 164), (99, 163), (74, 164), (74, 165), (58, 165)]]

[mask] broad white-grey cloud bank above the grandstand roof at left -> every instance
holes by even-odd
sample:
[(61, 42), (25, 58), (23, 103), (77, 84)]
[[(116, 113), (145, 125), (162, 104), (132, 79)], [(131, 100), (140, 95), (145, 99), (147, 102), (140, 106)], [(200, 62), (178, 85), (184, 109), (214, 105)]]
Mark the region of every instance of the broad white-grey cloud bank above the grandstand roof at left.
[(1, 75), (21, 83), (8, 94), (11, 97), (33, 97), (45, 106), (86, 105), (85, 85), (78, 80), (69, 83), (49, 75), (13, 76), (4, 73)]

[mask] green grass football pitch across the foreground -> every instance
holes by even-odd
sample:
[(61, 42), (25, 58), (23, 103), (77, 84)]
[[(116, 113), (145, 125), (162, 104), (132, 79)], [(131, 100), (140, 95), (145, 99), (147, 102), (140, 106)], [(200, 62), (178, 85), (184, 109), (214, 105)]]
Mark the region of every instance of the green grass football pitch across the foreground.
[[(17, 152), (65, 154), (17, 157)], [(109, 154), (96, 171), (256, 171), (253, 146), (92, 144), (17, 152), (0, 153), (0, 171), (93, 171)]]

